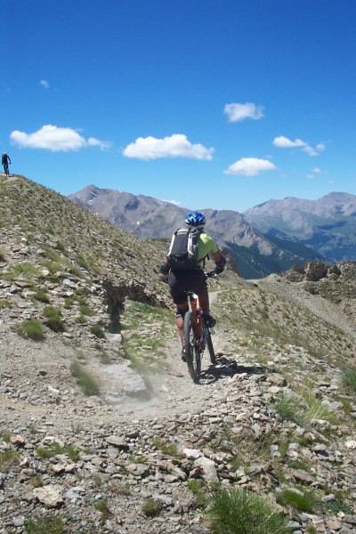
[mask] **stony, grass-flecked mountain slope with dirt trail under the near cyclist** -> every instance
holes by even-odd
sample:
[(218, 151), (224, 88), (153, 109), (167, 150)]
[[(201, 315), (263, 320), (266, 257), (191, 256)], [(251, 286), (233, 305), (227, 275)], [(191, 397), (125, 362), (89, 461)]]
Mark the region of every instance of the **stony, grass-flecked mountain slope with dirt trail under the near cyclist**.
[[(356, 401), (341, 379), (356, 339), (342, 306), (301, 280), (273, 275), (256, 285), (224, 274), (210, 287), (218, 362), (206, 357), (193, 384), (166, 288), (156, 275), (146, 285), (140, 269), (153, 272), (159, 251), (142, 246), (131, 272), (125, 263), (114, 272), (110, 258), (109, 275), (105, 265), (94, 270), (80, 230), (77, 249), (38, 223), (24, 228), (5, 195), (1, 534), (208, 533), (215, 484), (260, 495), (295, 534), (356, 532)], [(121, 247), (120, 258), (131, 254)], [(63, 328), (50, 328), (48, 306)], [(20, 328), (28, 320), (43, 325), (38, 339)], [(290, 491), (309, 504), (293, 504)]]

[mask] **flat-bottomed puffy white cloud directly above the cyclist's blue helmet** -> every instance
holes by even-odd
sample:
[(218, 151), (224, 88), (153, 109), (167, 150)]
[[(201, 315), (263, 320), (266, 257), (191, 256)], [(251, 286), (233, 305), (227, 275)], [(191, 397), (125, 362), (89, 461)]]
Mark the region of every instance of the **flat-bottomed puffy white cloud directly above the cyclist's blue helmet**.
[(158, 159), (158, 158), (191, 158), (213, 159), (214, 149), (206, 149), (201, 144), (191, 144), (186, 135), (173, 134), (170, 137), (138, 137), (135, 142), (123, 150), (126, 158)]

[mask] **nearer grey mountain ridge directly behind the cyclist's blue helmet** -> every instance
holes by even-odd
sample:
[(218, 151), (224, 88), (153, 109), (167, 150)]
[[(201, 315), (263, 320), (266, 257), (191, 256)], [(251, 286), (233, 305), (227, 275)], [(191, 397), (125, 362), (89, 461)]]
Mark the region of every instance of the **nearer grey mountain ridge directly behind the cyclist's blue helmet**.
[[(191, 209), (157, 198), (133, 195), (89, 185), (69, 195), (79, 206), (101, 216), (142, 239), (165, 238), (183, 225)], [(262, 278), (308, 259), (323, 256), (308, 247), (264, 236), (243, 214), (232, 210), (200, 209), (206, 215), (206, 231), (237, 263), (245, 278)]]

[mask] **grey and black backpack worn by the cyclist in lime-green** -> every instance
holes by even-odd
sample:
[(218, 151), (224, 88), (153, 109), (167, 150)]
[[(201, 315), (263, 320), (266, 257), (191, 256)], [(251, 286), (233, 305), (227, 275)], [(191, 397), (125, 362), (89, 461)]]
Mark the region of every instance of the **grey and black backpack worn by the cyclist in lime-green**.
[(172, 271), (199, 269), (199, 235), (200, 231), (198, 228), (179, 228), (174, 231), (171, 244), (166, 252), (166, 258)]

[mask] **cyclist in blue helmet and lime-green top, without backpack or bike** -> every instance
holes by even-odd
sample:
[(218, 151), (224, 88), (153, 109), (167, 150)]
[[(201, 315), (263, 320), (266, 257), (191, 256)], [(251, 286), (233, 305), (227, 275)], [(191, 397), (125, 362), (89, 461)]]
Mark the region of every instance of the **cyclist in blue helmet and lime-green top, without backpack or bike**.
[[(177, 307), (175, 324), (178, 328), (182, 344), (184, 336), (184, 315), (189, 310), (186, 291), (194, 291), (198, 295), (206, 326), (212, 328), (216, 323), (216, 320), (210, 315), (209, 311), (209, 294), (207, 292), (206, 277), (203, 269), (207, 255), (213, 256), (214, 263), (216, 264), (216, 272), (223, 272), (226, 260), (214, 242), (214, 239), (204, 231), (205, 223), (205, 215), (197, 211), (191, 212), (185, 219), (185, 224), (189, 228), (198, 228), (200, 231), (198, 237), (198, 269), (172, 271), (167, 258), (164, 258), (160, 264), (162, 274), (168, 275), (167, 282), (170, 293)], [(184, 349), (182, 349), (182, 360), (184, 360)]]

